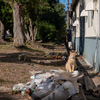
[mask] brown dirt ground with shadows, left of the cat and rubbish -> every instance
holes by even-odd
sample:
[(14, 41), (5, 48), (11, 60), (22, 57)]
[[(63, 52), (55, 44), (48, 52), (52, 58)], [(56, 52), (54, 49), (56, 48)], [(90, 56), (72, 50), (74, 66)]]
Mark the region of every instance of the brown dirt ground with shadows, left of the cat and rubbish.
[[(0, 44), (0, 100), (29, 100), (27, 96), (12, 95), (11, 88), (18, 83), (30, 81), (30, 71), (65, 69), (63, 59), (52, 58), (50, 52), (65, 53), (64, 45), (53, 43), (34, 43), (24, 48), (16, 48), (12, 42)], [(20, 54), (25, 53), (31, 61), (19, 61)], [(4, 90), (4, 88), (8, 90)]]

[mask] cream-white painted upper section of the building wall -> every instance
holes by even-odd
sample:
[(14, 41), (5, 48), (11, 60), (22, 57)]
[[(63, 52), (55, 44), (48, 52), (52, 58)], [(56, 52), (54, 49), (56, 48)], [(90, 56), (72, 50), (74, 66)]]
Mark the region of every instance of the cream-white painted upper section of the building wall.
[[(85, 0), (85, 7), (91, 1), (93, 0)], [(76, 18), (79, 18), (79, 7), (80, 2), (76, 7)], [(96, 37), (97, 34), (99, 34), (99, 13), (98, 11), (94, 11), (93, 26), (88, 27), (88, 17), (85, 17), (85, 37)], [(76, 37), (80, 37), (80, 23), (76, 26)]]

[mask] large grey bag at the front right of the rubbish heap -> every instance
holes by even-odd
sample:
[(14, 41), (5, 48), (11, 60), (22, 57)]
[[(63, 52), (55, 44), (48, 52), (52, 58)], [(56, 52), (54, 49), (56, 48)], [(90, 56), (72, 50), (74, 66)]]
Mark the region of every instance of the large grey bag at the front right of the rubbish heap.
[(75, 93), (77, 93), (76, 88), (71, 82), (67, 81), (41, 100), (66, 100)]

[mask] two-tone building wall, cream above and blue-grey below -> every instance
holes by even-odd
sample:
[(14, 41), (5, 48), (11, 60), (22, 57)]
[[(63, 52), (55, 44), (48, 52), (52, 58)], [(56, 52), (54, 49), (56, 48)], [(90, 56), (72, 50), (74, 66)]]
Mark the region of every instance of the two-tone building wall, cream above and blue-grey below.
[[(81, 1), (81, 0), (80, 0)], [(91, 2), (92, 0), (84, 0), (84, 6)], [(79, 24), (76, 26), (76, 37), (75, 37), (75, 49), (79, 53), (83, 50), (82, 55), (85, 60), (90, 64), (96, 71), (100, 71), (100, 11), (99, 11), (99, 2), (98, 0), (98, 11), (94, 11), (93, 25), (88, 27), (88, 17), (85, 17), (85, 32), (84, 37), (81, 38), (81, 30), (80, 30), (80, 20)], [(80, 16), (80, 2), (76, 7), (76, 18)], [(80, 40), (83, 39), (83, 43), (80, 43)], [(83, 46), (82, 46), (83, 45)]]

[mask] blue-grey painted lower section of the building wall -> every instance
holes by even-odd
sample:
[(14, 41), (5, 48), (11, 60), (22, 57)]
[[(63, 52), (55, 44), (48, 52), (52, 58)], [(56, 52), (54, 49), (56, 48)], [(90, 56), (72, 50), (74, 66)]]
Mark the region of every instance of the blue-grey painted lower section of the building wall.
[[(97, 45), (97, 48), (96, 48)], [(76, 38), (76, 51), (79, 52), (79, 38)], [(85, 38), (83, 57), (96, 71), (100, 71), (100, 37)]]

